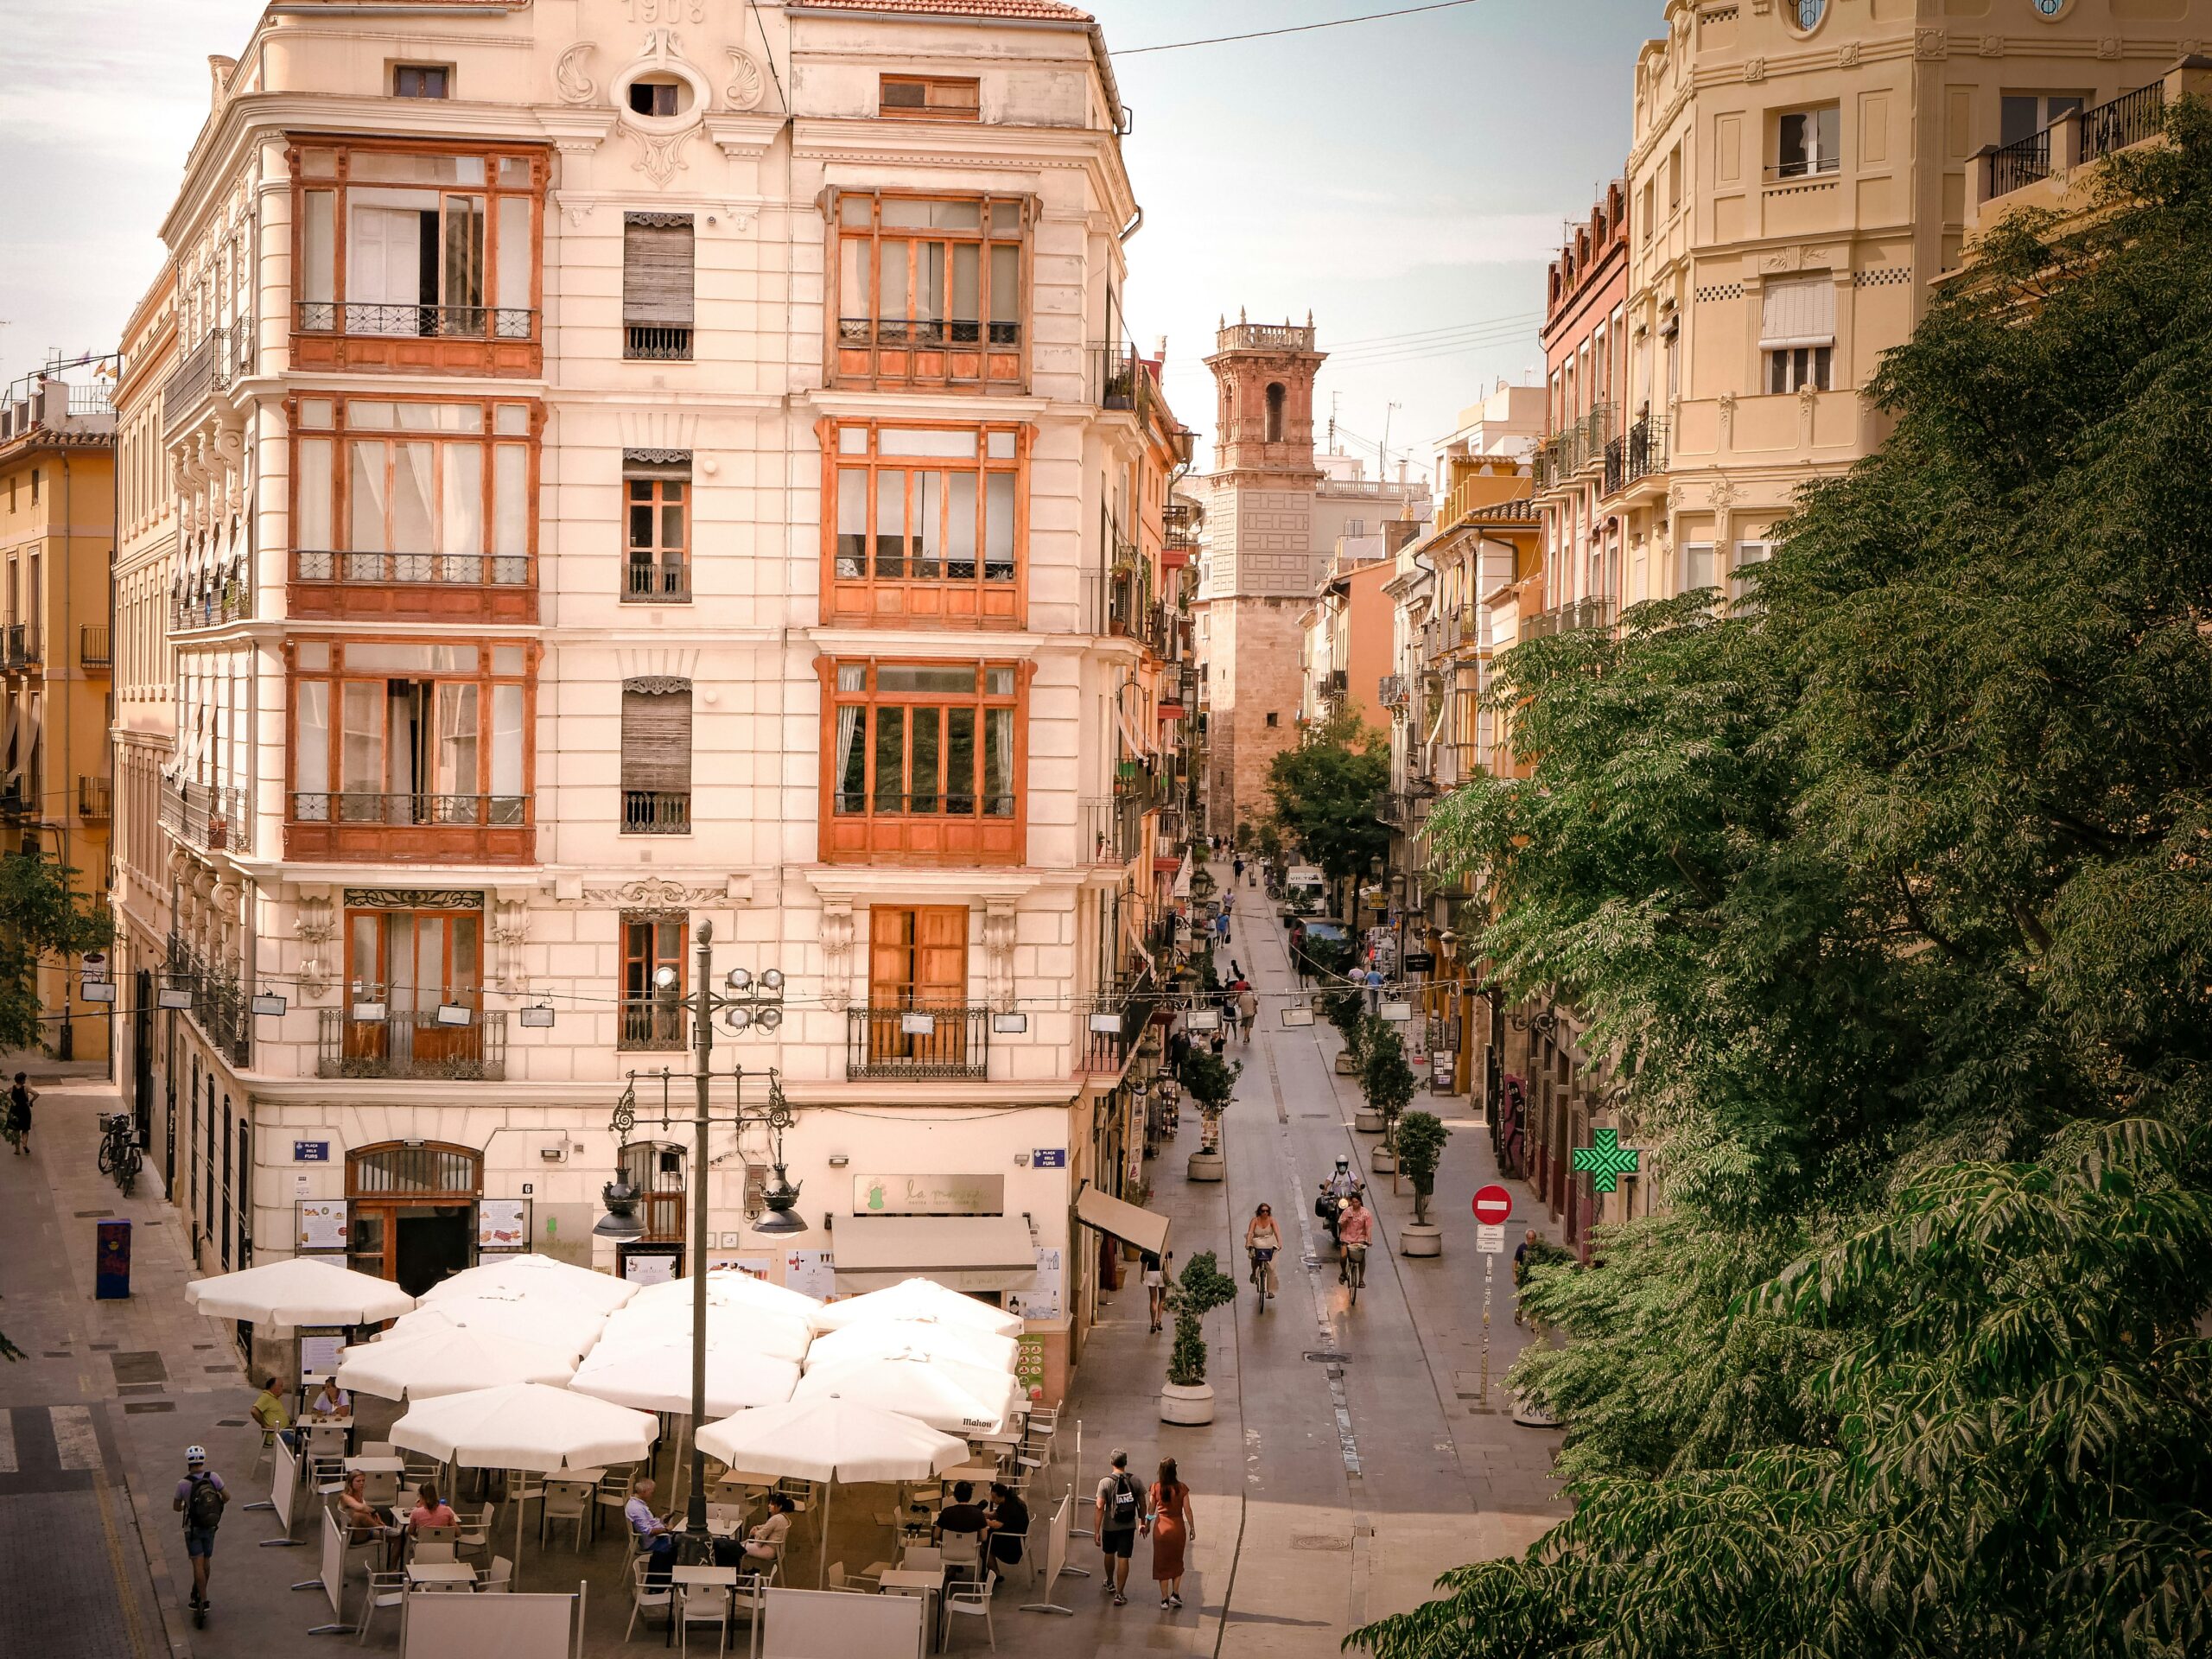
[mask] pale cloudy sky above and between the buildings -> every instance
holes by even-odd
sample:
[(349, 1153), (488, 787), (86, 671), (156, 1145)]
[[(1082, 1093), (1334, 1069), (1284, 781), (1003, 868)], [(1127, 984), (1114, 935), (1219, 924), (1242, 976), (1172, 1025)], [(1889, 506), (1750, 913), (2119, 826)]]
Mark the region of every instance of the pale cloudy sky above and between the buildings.
[[(1621, 168), (1635, 55), (1661, 0), (1475, 0), (1126, 55), (1407, 2), (1088, 7), (1135, 113), (1130, 334), (1146, 354), (1166, 336), (1168, 400), (1201, 434), (1203, 356), (1239, 310), (1312, 310), (1332, 352), (1316, 420), (1334, 409), (1340, 447), (1369, 469), (1385, 429), (1394, 467), (1425, 467), (1462, 407), (1542, 363), (1544, 265)], [(0, 0), (0, 380), (49, 349), (113, 347), (159, 263), (155, 232), (208, 108), (206, 60), (237, 53), (259, 11)]]

